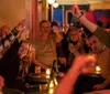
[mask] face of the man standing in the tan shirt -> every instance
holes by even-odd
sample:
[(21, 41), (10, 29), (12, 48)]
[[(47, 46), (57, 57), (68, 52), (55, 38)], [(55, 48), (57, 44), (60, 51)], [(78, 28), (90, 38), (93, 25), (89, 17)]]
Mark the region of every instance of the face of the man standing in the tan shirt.
[(42, 34), (48, 34), (51, 32), (51, 24), (50, 24), (50, 22), (43, 22), (40, 25), (40, 30), (41, 30)]

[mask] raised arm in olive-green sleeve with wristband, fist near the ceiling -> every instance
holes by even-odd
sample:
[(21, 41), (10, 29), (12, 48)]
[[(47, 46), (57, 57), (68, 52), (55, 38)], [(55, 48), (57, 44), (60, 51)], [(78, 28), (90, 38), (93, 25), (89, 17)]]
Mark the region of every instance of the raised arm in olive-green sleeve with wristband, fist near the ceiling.
[(105, 29), (98, 27), (97, 24), (90, 22), (79, 10), (78, 7), (73, 6), (73, 13), (78, 18), (78, 20), (91, 32), (94, 33), (102, 43), (110, 48), (110, 33)]

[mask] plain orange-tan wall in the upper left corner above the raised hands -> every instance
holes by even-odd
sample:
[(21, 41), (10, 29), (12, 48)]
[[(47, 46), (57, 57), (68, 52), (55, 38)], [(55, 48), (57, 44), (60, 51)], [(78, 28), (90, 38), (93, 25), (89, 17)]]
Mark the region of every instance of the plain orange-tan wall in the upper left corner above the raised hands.
[(25, 19), (25, 0), (0, 0), (0, 27), (13, 28)]

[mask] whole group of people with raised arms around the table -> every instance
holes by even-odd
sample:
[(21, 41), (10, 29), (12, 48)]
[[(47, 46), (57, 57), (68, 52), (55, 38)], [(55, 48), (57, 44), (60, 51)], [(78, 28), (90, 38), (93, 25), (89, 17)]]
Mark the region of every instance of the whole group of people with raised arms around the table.
[[(57, 22), (42, 20), (40, 35), (33, 42), (29, 42), (24, 33), (24, 20), (12, 30), (7, 25), (1, 27), (0, 40), (7, 38), (7, 42), (1, 41), (3, 49), (0, 48), (0, 91), (6, 84), (8, 88), (25, 92), (25, 77), (31, 64), (45, 70), (52, 67), (53, 61), (56, 60), (56, 72), (67, 73), (54, 94), (94, 94), (92, 91), (97, 91), (96, 94), (110, 93), (108, 90), (99, 91), (110, 88), (110, 33), (87, 20), (77, 7), (73, 8), (73, 13), (89, 30), (89, 34), (82, 33), (81, 27), (75, 25), (63, 32)], [(88, 91), (86, 85), (77, 83), (84, 82), (85, 77), (81, 74), (89, 73), (88, 69), (96, 65), (101, 67), (101, 77)], [(79, 92), (78, 87), (86, 91)]]

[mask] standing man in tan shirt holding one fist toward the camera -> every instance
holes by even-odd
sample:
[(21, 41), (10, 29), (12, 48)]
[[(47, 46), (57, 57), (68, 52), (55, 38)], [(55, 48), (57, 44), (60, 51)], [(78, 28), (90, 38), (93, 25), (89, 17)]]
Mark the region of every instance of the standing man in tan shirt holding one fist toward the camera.
[(51, 28), (51, 22), (42, 20), (40, 22), (40, 35), (33, 41), (35, 54), (33, 62), (42, 69), (52, 67), (53, 61), (57, 59), (56, 43), (63, 40), (61, 29), (57, 25)]

